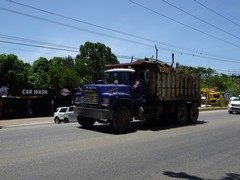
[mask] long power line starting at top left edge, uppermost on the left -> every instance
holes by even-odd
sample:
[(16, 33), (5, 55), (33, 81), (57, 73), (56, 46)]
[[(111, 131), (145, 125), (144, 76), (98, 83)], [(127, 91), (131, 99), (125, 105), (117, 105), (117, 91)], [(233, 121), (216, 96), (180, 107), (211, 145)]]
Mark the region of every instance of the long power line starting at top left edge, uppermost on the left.
[[(61, 15), (61, 14), (58, 14), (58, 13), (55, 13), (55, 12), (50, 12), (50, 11), (40, 9), (40, 8), (37, 8), (37, 7), (34, 7), (34, 6), (30, 6), (30, 5), (27, 5), (27, 4), (19, 3), (19, 2), (16, 2), (14, 0), (7, 0), (7, 1), (11, 2), (11, 3), (14, 3), (14, 4), (17, 4), (17, 5), (20, 5), (20, 6), (23, 6), (23, 7), (27, 7), (27, 8), (34, 9), (34, 10), (37, 10), (37, 11), (40, 11), (40, 12), (44, 12), (44, 13), (47, 13), (47, 14), (50, 14), (50, 15), (54, 15), (54, 16), (61, 17), (61, 18), (64, 18), (64, 19), (72, 20), (72, 21), (75, 21), (75, 22), (78, 22), (78, 23), (87, 24), (87, 25), (90, 25), (90, 26), (93, 26), (93, 27), (104, 29), (104, 30), (112, 31), (114, 33), (118, 33), (118, 34), (126, 35), (126, 36), (129, 36), (129, 37), (134, 37), (134, 38), (137, 38), (137, 39), (140, 39), (140, 40), (145, 40), (145, 41), (161, 44), (161, 45), (164, 45), (164, 46), (177, 48), (177, 49), (180, 49), (180, 50), (189, 51), (189, 52), (192, 52), (191, 55), (197, 53), (197, 54), (200, 54), (200, 55), (205, 54), (206, 56), (215, 56), (218, 59), (223, 59), (222, 57), (218, 57), (217, 55), (210, 55), (209, 53), (206, 53), (206, 52), (199, 52), (199, 51), (196, 51), (196, 50), (193, 50), (193, 49), (183, 48), (183, 47), (172, 45), (172, 44), (169, 44), (169, 43), (166, 43), (166, 42), (160, 42), (160, 41), (152, 40), (152, 39), (149, 39), (149, 38), (141, 37), (141, 36), (138, 36), (138, 35), (122, 32), (122, 31), (119, 31), (119, 30), (111, 29), (111, 28), (108, 28), (108, 27), (104, 27), (104, 26), (89, 23), (89, 22), (86, 22), (86, 21), (83, 21), (83, 20), (79, 20), (79, 19), (76, 19), (76, 18), (72, 18), (72, 17), (69, 17), (69, 16)], [(152, 47), (152, 45), (150, 45), (150, 46)], [(176, 52), (176, 50), (172, 50), (172, 49), (171, 50), (170, 49), (164, 49), (164, 50), (171, 51), (171, 52), (172, 51)], [(181, 52), (181, 53), (183, 53), (183, 52)], [(228, 58), (228, 59), (231, 59), (231, 58)]]

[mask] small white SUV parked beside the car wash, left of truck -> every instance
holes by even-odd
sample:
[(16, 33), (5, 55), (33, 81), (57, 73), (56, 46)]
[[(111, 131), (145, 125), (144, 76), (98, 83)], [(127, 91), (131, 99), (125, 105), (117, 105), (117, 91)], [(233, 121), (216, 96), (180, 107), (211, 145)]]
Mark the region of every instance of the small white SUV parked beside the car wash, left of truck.
[(77, 118), (73, 111), (73, 106), (70, 107), (59, 107), (54, 112), (54, 122), (60, 124), (61, 122), (69, 123), (76, 122)]

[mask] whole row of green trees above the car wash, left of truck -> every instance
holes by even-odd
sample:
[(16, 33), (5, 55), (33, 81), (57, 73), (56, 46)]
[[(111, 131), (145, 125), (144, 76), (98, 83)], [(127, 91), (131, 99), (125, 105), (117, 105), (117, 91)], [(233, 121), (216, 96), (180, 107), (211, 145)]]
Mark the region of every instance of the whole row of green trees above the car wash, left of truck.
[(0, 55), (0, 86), (9, 88), (76, 88), (103, 78), (105, 65), (119, 63), (109, 47), (86, 42), (76, 58), (40, 57), (33, 65), (17, 56)]

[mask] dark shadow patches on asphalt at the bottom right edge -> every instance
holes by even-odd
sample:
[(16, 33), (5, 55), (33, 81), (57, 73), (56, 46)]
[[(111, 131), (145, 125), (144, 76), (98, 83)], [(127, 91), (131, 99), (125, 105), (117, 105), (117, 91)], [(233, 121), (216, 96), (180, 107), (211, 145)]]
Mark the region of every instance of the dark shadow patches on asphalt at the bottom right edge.
[[(171, 177), (171, 178), (178, 178), (178, 179), (186, 179), (186, 180), (213, 180), (213, 179), (203, 179), (197, 176), (193, 176), (190, 174), (187, 174), (185, 172), (171, 172), (171, 171), (164, 171), (163, 175)], [(234, 173), (226, 173), (225, 177), (222, 177), (219, 180), (240, 180), (240, 174), (234, 174)]]

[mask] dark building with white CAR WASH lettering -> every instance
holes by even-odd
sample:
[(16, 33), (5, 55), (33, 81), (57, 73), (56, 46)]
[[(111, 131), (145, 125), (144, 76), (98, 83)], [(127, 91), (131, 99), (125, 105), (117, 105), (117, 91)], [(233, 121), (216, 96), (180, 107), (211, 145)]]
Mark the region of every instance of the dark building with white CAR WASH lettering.
[(0, 88), (0, 119), (52, 116), (61, 106), (70, 106), (77, 89)]

